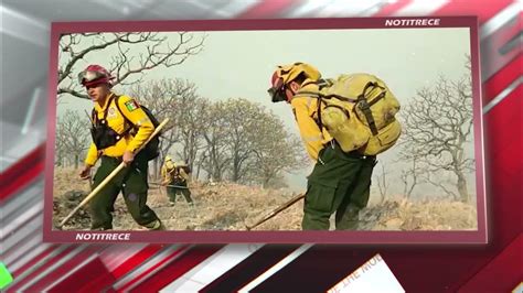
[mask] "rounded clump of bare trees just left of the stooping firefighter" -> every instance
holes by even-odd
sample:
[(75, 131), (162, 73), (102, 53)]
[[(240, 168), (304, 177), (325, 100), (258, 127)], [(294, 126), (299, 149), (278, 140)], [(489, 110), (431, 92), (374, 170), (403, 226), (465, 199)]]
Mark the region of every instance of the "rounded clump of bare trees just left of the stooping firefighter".
[(233, 182), (267, 187), (307, 161), (299, 139), (262, 105), (230, 98), (214, 104), (210, 112), (203, 135), (205, 166), (213, 180), (227, 173)]

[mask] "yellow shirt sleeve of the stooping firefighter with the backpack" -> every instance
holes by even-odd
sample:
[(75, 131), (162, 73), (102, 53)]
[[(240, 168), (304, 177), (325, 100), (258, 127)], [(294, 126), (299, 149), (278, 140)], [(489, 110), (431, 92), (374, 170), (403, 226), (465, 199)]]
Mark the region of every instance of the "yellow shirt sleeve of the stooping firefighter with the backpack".
[[(306, 82), (307, 83), (307, 82)], [(317, 84), (308, 84), (300, 91), (318, 91)], [(323, 128), (317, 124), (318, 119), (318, 99), (314, 97), (299, 96), (291, 99), (290, 105), (295, 112), (296, 121), (300, 130), (301, 140), (303, 141), (307, 152), (312, 160), (318, 160), (318, 154), (323, 145), (332, 140), (332, 137)], [(324, 108), (324, 105), (321, 106)]]

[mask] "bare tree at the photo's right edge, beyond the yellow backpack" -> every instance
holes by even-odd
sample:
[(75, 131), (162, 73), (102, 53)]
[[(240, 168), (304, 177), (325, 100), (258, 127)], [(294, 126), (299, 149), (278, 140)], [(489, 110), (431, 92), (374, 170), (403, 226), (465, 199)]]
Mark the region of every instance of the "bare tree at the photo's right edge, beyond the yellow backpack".
[[(412, 146), (403, 159), (419, 159), (426, 171), (451, 172), (462, 202), (469, 200), (466, 173), (473, 170), (473, 159), (466, 152), (472, 140), (472, 94), (470, 76), (458, 80), (440, 77), (433, 88), (417, 91), (404, 113), (402, 144)], [(434, 180), (433, 184), (441, 187)]]

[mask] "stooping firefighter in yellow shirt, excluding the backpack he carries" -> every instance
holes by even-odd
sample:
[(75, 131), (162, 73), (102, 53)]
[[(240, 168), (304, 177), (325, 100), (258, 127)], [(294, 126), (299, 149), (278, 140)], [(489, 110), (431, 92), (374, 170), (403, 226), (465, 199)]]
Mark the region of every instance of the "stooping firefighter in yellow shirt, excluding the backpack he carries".
[(307, 95), (320, 87), (321, 74), (305, 63), (278, 66), (268, 93), (273, 102), (290, 104), (301, 139), (310, 158), (316, 161), (308, 176), (303, 205), (305, 230), (328, 230), (329, 218), (335, 213), (335, 228), (356, 229), (359, 211), (370, 196), (375, 156), (364, 156), (357, 150), (345, 153), (329, 132), (319, 124), (324, 105)]

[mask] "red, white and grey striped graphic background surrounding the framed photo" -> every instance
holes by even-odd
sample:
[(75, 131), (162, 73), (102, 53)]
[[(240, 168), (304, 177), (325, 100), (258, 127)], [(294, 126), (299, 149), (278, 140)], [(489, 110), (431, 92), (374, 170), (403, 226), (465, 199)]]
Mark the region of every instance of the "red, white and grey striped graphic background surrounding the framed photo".
[[(325, 292), (377, 253), (406, 292), (521, 290), (522, 159), (521, 135), (515, 131), (521, 126), (523, 108), (520, 99), (521, 1), (399, 0), (349, 4), (345, 1), (242, 0), (138, 4), (127, 0), (107, 3), (7, 0), (1, 10), (2, 68), (8, 68), (10, 74), (2, 74), (0, 101), (3, 138), (0, 258), (13, 278), (3, 291), (172, 292), (180, 287), (214, 292), (247, 287), (255, 292), (275, 292), (292, 287)], [(52, 22), (450, 15), (471, 15), (479, 21), (488, 243), (363, 247), (42, 242)], [(38, 64), (43, 66), (35, 66)], [(380, 164), (375, 170), (378, 167)], [(183, 195), (177, 198), (177, 204), (185, 204)], [(270, 225), (282, 213), (262, 225)], [(498, 278), (500, 274), (502, 278)]]

